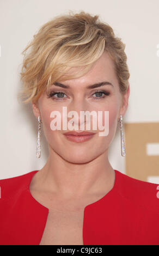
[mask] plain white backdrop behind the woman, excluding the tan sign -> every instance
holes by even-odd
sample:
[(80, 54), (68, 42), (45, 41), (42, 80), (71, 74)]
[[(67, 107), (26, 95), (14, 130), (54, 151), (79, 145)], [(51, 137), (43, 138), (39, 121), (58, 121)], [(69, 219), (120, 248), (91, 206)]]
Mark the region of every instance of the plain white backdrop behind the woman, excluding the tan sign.
[[(159, 121), (158, 0), (1, 0), (0, 179), (41, 169), (47, 160), (48, 149), (43, 133), (41, 158), (35, 157), (38, 122), (32, 108), (17, 101), (21, 86), (21, 52), (41, 25), (68, 10), (99, 14), (101, 20), (111, 25), (126, 44), (130, 98), (124, 122)], [(125, 173), (119, 131), (111, 144), (109, 160), (114, 169)]]

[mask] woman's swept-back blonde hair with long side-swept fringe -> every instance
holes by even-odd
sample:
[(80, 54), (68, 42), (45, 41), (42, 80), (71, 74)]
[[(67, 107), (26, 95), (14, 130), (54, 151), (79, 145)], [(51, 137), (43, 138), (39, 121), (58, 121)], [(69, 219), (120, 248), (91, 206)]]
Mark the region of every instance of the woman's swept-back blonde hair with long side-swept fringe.
[[(22, 52), (23, 88), (18, 97), (25, 98), (23, 103), (37, 101), (54, 82), (86, 74), (103, 51), (113, 59), (120, 92), (124, 94), (130, 77), (124, 50), (125, 44), (111, 26), (99, 20), (99, 15), (70, 11), (56, 16), (40, 27)], [(78, 72), (68, 74), (73, 67), (78, 67)]]

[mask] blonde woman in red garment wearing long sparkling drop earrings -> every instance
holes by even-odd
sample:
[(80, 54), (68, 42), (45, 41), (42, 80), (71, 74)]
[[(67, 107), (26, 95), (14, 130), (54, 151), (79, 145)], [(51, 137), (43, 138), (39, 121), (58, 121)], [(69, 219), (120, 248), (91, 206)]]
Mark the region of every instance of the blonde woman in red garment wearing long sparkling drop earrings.
[[(130, 178), (108, 160), (118, 123), (125, 156), (130, 74), (121, 39), (81, 11), (47, 22), (23, 53), (28, 49), (23, 102), (32, 103), (39, 121), (36, 156), (41, 128), (49, 156), (42, 169), (1, 180), (1, 245), (159, 245), (157, 184)], [(54, 113), (63, 125), (70, 111), (76, 114), (69, 125), (84, 129), (56, 129)], [(85, 121), (82, 111), (102, 113), (100, 126), (93, 129), (96, 119)]]

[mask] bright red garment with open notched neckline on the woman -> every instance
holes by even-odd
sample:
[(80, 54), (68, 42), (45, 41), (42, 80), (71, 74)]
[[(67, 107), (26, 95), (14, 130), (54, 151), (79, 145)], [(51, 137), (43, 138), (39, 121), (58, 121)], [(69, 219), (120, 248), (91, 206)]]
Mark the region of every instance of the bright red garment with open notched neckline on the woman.
[[(39, 245), (48, 209), (30, 194), (34, 170), (0, 180), (0, 245)], [(84, 209), (84, 245), (159, 245), (157, 186), (115, 170), (111, 191)]]

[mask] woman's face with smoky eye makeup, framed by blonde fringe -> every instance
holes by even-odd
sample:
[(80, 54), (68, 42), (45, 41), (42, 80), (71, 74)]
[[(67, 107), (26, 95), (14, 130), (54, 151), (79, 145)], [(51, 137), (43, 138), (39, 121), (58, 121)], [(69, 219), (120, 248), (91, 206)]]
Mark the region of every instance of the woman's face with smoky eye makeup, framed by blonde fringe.
[[(115, 75), (113, 61), (106, 52), (102, 54), (86, 75), (58, 82), (69, 88), (62, 88), (53, 84), (50, 89), (50, 93), (52, 92), (51, 97), (48, 97), (45, 92), (40, 96), (38, 104), (33, 103), (35, 117), (38, 118), (38, 115), (41, 117), (42, 129), (49, 144), (50, 154), (53, 150), (66, 161), (87, 163), (107, 152), (115, 136), (120, 114), (124, 115), (126, 112), (130, 90), (128, 88), (124, 96), (119, 92), (119, 83)], [(96, 88), (87, 88), (102, 82), (109, 82), (112, 85), (105, 84)], [(94, 132), (95, 134), (88, 141), (70, 141), (64, 135), (65, 132), (70, 130), (69, 128), (63, 130), (63, 107), (66, 107), (67, 113), (70, 111), (77, 112), (78, 118), (76, 117), (74, 123), (72, 123), (72, 126), (75, 125), (76, 129), (80, 125), (81, 111), (89, 111), (89, 113), (91, 111), (96, 113), (102, 111), (102, 125), (108, 125), (108, 135), (99, 136), (101, 130), (99, 130), (98, 125), (97, 130), (93, 130), (93, 118), (90, 115), (90, 130), (87, 130), (86, 126), (84, 126), (84, 131)], [(61, 114), (61, 130), (51, 129), (51, 121), (57, 117), (50, 117), (53, 111), (58, 111)], [(105, 111), (109, 113), (109, 123), (105, 120)], [(74, 117), (73, 115), (65, 120), (68, 123)], [(78, 127), (79, 130), (80, 126)]]

